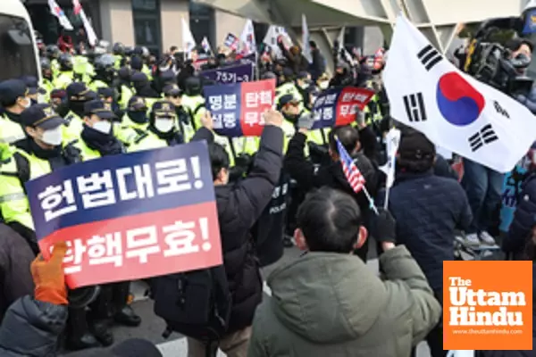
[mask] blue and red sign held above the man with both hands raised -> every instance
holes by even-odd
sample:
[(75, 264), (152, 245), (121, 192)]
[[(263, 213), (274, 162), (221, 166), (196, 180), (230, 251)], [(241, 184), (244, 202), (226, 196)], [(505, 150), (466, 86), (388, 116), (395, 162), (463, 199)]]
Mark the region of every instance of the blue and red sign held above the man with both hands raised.
[(258, 137), (264, 128), (263, 113), (273, 106), (275, 79), (209, 86), (204, 93), (216, 133)]

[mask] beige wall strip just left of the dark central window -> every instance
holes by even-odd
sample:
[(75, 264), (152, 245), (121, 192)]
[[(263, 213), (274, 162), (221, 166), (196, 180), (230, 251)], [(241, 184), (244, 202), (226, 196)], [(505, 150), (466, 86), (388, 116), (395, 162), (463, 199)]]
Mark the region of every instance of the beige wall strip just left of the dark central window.
[(100, 17), (103, 38), (111, 43), (134, 45), (134, 23), (130, 0), (100, 2)]

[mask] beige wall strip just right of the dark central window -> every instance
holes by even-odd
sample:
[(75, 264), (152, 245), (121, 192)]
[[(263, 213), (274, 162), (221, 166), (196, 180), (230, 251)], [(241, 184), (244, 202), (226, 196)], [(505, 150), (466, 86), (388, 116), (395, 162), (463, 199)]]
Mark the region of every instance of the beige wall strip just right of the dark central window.
[(182, 25), (184, 18), (189, 23), (188, 1), (160, 0), (160, 22), (162, 27), (163, 51), (171, 46), (182, 46)]

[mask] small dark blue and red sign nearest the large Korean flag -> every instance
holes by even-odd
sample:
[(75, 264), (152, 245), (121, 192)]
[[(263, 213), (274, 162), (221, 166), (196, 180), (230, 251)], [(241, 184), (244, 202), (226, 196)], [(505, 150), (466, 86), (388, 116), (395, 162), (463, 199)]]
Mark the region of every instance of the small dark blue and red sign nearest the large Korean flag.
[(357, 87), (333, 88), (322, 92), (314, 101), (313, 129), (348, 125), (356, 120), (358, 110), (364, 110), (374, 92)]

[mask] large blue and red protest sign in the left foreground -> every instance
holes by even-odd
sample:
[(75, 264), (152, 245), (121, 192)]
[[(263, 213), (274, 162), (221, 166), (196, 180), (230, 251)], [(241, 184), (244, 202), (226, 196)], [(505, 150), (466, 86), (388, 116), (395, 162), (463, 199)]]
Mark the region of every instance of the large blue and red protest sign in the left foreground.
[(78, 163), (26, 185), (41, 252), (71, 288), (222, 264), (205, 142)]

